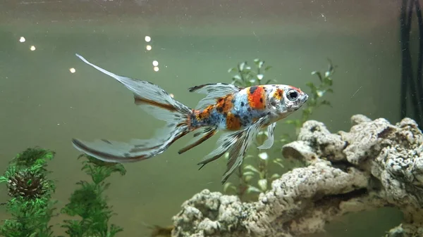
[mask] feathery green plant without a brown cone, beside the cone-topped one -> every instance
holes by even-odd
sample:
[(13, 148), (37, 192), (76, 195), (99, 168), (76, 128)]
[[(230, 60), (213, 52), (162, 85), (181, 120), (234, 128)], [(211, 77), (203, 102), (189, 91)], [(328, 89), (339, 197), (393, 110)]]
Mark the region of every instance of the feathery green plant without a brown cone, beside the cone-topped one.
[(123, 229), (114, 224), (109, 224), (114, 212), (107, 204), (107, 199), (104, 196), (104, 191), (110, 186), (110, 183), (106, 183), (105, 179), (115, 172), (125, 175), (126, 170), (121, 164), (103, 162), (89, 155), (80, 155), (79, 158), (82, 157), (86, 158), (82, 162), (82, 171), (88, 174), (92, 181), (79, 181), (77, 183), (80, 188), (71, 194), (69, 203), (63, 207), (61, 212), (80, 218), (67, 219), (62, 227), (67, 229), (66, 233), (71, 237), (113, 237)]

